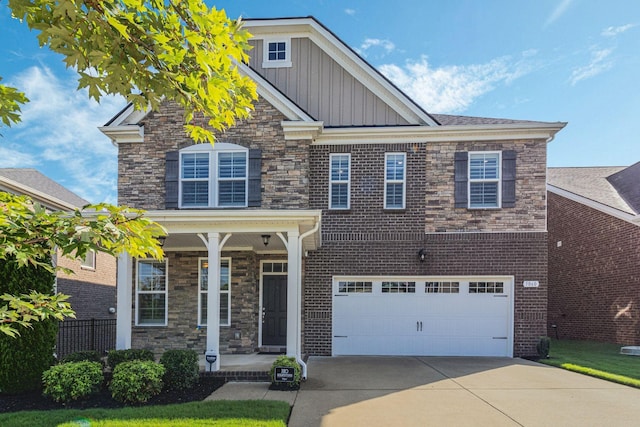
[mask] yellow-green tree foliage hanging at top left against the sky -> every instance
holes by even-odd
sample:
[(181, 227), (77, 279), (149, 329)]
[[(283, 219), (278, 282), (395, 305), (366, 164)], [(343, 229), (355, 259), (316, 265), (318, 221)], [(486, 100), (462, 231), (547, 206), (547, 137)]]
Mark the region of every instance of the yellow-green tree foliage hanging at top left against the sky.
[[(119, 94), (139, 109), (173, 100), (185, 111), (185, 130), (214, 142), (249, 116), (255, 83), (236, 66), (246, 62), (250, 34), (224, 10), (202, 0), (9, 0), (13, 16), (40, 31), (38, 41), (64, 56), (79, 74), (78, 88), (99, 100)], [(27, 102), (0, 84), (0, 119), (20, 120)], [(204, 117), (208, 127), (194, 121)]]

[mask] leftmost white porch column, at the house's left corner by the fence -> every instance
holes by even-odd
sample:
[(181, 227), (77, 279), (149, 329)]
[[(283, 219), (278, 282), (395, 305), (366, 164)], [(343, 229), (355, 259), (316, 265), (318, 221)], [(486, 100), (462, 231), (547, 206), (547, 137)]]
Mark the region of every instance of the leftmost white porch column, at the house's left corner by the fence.
[(131, 348), (131, 320), (133, 294), (133, 260), (128, 253), (118, 256), (118, 275), (116, 283), (116, 349)]

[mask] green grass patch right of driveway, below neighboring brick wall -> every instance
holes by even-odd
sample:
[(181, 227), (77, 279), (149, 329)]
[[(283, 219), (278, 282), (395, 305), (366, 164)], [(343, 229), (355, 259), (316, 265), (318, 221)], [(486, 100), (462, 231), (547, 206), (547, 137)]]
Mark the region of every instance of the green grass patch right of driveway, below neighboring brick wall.
[(620, 347), (620, 344), (554, 339), (549, 358), (540, 362), (640, 388), (640, 357), (622, 355)]

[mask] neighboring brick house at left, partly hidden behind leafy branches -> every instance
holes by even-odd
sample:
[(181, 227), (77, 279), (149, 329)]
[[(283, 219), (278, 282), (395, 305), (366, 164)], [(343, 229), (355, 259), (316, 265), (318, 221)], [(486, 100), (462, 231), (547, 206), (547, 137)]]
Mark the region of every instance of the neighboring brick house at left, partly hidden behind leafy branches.
[[(27, 195), (51, 211), (71, 211), (89, 204), (39, 171), (28, 168), (0, 169), (0, 191)], [(74, 272), (58, 272), (56, 289), (70, 296), (76, 319), (115, 319), (116, 259), (91, 252), (83, 261), (57, 257), (57, 264)], [(113, 312), (110, 312), (109, 309)]]

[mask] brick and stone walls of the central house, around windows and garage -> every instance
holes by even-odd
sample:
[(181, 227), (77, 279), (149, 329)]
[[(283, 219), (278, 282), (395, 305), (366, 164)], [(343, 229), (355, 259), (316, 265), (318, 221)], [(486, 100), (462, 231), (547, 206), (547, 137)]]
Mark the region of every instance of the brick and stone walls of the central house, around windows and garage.
[[(192, 145), (182, 120), (175, 105), (165, 104), (144, 119), (143, 143), (119, 145), (119, 203), (164, 209), (165, 153)], [(303, 260), (304, 352), (331, 354), (332, 276), (447, 274), (514, 276), (514, 354), (535, 354), (538, 337), (546, 334), (547, 327), (544, 140), (315, 145), (285, 140), (283, 120), (281, 113), (260, 100), (251, 119), (218, 141), (262, 150), (260, 209), (322, 210), (322, 246)], [(483, 150), (516, 151), (515, 208), (453, 207), (454, 154)], [(398, 152), (406, 153), (407, 159), (406, 206), (384, 209), (385, 153)], [(349, 210), (327, 209), (331, 153), (351, 154)], [(425, 263), (418, 261), (420, 248), (428, 252)], [(197, 260), (206, 252), (167, 256), (169, 324), (134, 326), (132, 346), (158, 354), (169, 348), (202, 352), (206, 331), (197, 327)], [(220, 350), (252, 352), (259, 345), (261, 255), (223, 252), (222, 256), (232, 256), (232, 320), (230, 327), (221, 327)], [(540, 287), (525, 289), (523, 280), (538, 280)]]

